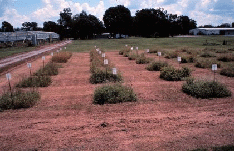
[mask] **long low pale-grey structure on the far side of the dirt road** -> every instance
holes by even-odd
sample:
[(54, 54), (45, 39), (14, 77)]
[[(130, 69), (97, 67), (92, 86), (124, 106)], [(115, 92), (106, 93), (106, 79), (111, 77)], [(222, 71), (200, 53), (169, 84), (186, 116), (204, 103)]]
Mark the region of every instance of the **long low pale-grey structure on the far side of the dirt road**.
[(31, 41), (33, 45), (37, 45), (38, 41), (53, 41), (59, 39), (59, 34), (54, 32), (42, 31), (17, 31), (17, 32), (0, 32), (0, 42), (9, 43), (17, 41)]

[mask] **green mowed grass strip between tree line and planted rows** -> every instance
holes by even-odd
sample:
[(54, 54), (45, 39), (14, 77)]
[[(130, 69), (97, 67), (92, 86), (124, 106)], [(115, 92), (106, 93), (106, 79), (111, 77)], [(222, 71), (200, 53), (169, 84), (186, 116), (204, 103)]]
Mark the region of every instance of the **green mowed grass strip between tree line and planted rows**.
[[(228, 45), (222, 45), (223, 40), (227, 41)], [(216, 46), (204, 46), (204, 43), (215, 43)], [(194, 49), (215, 48), (215, 49), (230, 49), (234, 48), (234, 37), (225, 36), (202, 36), (202, 37), (174, 37), (174, 38), (139, 38), (131, 37), (128, 39), (93, 39), (93, 40), (74, 40), (68, 46), (69, 51), (73, 52), (88, 52), (98, 46), (104, 51), (116, 51), (122, 49), (125, 45), (138, 47), (142, 49), (180, 49), (189, 47)]]

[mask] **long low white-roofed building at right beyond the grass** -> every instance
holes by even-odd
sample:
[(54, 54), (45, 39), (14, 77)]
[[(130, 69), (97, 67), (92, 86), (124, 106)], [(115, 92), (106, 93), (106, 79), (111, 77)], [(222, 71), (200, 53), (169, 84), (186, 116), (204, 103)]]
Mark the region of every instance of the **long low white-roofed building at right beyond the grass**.
[(234, 28), (196, 28), (189, 31), (191, 35), (234, 35)]

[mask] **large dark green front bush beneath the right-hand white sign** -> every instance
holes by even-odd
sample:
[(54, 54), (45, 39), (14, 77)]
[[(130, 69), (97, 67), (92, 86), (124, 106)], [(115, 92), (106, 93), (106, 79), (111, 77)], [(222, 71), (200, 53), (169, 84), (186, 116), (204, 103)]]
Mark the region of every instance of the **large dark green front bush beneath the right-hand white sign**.
[(202, 99), (231, 96), (231, 91), (225, 85), (216, 81), (194, 81), (190, 79), (183, 84), (182, 90), (184, 93)]

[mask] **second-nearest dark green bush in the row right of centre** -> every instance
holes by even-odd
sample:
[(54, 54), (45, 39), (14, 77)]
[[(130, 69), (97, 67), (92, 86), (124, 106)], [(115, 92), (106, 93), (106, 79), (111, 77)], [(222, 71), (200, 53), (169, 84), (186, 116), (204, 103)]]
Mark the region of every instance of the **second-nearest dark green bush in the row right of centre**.
[(167, 81), (181, 81), (183, 78), (189, 77), (190, 74), (191, 70), (187, 67), (183, 67), (183, 69), (165, 67), (160, 72), (160, 78)]

